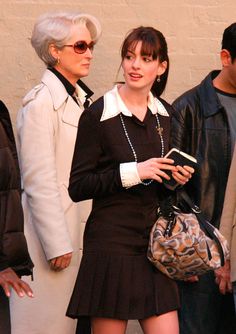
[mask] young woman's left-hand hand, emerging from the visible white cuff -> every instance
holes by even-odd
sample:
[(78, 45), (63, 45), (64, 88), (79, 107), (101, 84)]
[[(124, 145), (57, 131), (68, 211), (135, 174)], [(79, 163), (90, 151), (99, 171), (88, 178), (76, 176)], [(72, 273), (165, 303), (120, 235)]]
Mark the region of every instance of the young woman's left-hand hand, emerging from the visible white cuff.
[(170, 170), (172, 173), (178, 172), (173, 163), (174, 160), (168, 158), (151, 158), (137, 163), (140, 180), (152, 179), (160, 183), (162, 183), (162, 178), (169, 180), (170, 177), (165, 173), (165, 170)]

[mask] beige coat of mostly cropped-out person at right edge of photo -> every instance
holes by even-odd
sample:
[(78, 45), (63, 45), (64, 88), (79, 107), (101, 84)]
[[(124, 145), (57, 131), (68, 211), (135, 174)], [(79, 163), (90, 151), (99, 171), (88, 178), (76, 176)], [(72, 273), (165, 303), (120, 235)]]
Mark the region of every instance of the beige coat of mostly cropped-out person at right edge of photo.
[(236, 282), (236, 145), (229, 172), (220, 231), (230, 245), (231, 281)]

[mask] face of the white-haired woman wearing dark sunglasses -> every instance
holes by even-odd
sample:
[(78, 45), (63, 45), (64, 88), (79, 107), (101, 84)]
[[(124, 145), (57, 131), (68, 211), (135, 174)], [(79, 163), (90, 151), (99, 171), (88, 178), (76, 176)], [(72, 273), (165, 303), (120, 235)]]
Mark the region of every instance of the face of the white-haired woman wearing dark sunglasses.
[(70, 45), (74, 45), (78, 41), (84, 41), (88, 45), (92, 42), (90, 32), (84, 26), (72, 26), (71, 37), (62, 49), (51, 46), (51, 54), (58, 59), (58, 63), (54, 67), (73, 85), (80, 78), (88, 75), (90, 62), (93, 58), (92, 50), (89, 48), (81, 54), (74, 51)]

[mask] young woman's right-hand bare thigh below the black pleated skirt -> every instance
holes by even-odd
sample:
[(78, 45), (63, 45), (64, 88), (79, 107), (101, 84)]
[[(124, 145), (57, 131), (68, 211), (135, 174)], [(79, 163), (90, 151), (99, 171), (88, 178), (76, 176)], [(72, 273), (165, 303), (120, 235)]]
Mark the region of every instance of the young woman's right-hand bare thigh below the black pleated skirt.
[(140, 320), (144, 334), (179, 334), (177, 311)]

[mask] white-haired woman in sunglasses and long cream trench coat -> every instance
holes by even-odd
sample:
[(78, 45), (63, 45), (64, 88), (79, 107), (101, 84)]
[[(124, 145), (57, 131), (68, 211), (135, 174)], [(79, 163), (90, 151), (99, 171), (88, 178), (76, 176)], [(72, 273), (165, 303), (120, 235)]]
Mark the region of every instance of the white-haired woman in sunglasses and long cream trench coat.
[(67, 188), (79, 117), (92, 92), (89, 73), (100, 24), (88, 14), (49, 13), (31, 43), (47, 69), (23, 99), (17, 118), (25, 233), (35, 263), (33, 302), (12, 299), (14, 334), (70, 334), (65, 317), (81, 257), (90, 202), (75, 204)]

